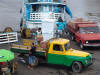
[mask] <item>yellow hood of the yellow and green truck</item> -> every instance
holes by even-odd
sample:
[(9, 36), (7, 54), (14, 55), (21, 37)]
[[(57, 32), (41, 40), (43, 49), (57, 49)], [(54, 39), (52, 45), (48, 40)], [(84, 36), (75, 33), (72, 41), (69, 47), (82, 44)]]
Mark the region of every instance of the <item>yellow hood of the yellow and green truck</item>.
[(66, 55), (69, 55), (69, 56), (86, 57), (86, 56), (89, 56), (89, 54), (90, 53), (88, 53), (88, 52), (83, 52), (83, 51), (74, 50), (74, 49), (70, 49), (70, 50), (66, 51)]

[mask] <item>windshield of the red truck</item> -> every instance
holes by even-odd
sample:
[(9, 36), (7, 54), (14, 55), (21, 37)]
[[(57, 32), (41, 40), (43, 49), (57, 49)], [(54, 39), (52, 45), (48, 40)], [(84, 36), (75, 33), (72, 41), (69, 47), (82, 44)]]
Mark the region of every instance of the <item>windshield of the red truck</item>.
[(100, 29), (98, 26), (96, 27), (82, 27), (80, 28), (80, 33), (100, 33)]

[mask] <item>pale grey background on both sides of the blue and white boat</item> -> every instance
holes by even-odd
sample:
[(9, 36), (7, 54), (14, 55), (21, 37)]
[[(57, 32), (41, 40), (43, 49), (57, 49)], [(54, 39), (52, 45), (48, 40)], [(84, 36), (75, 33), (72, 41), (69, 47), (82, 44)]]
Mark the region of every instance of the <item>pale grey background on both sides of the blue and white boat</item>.
[[(74, 17), (87, 17), (87, 13), (100, 13), (100, 0), (67, 0)], [(5, 27), (20, 30), (22, 0), (0, 0), (0, 31)]]

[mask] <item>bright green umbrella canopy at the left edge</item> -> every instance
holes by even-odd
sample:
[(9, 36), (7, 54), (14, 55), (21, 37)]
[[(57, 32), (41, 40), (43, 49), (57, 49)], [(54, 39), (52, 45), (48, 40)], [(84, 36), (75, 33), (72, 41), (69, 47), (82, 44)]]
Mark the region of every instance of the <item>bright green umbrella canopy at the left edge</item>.
[(14, 53), (9, 50), (0, 49), (0, 62), (7, 62), (14, 59)]

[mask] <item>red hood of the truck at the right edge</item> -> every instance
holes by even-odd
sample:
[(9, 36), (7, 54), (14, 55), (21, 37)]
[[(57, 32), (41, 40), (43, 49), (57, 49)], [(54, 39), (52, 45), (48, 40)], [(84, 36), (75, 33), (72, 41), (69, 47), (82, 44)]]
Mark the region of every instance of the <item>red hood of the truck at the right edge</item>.
[(80, 34), (84, 40), (100, 40), (100, 33)]

